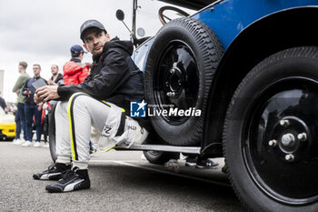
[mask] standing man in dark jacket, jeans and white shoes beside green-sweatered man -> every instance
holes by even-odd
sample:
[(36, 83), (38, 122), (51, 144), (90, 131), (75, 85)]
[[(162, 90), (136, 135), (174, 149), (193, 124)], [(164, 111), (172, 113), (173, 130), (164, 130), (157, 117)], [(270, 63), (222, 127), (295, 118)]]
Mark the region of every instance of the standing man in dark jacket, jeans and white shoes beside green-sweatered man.
[(33, 146), (32, 144), (32, 122), (33, 116), (35, 116), (35, 127), (36, 127), (36, 140), (35, 147), (41, 146), (41, 134), (42, 134), (42, 125), (41, 125), (41, 116), (42, 111), (38, 109), (34, 101), (35, 96), (35, 87), (32, 84), (39, 79), (42, 79), (46, 82), (44, 78), (40, 76), (41, 66), (35, 64), (33, 66), (34, 77), (29, 78), (25, 81), (24, 86), (24, 95), (25, 95), (25, 120), (26, 120), (26, 141), (22, 146)]

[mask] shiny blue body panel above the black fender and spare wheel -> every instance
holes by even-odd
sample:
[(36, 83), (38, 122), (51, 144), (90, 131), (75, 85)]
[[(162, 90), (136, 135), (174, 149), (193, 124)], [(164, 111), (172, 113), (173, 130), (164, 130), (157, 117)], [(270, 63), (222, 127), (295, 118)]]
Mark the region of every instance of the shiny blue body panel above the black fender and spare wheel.
[[(215, 4), (215, 5), (214, 5)], [(214, 3), (204, 11), (192, 15), (208, 25), (218, 35), (224, 49), (234, 41), (244, 28), (253, 22), (286, 9), (317, 5), (317, 0), (226, 0)]]

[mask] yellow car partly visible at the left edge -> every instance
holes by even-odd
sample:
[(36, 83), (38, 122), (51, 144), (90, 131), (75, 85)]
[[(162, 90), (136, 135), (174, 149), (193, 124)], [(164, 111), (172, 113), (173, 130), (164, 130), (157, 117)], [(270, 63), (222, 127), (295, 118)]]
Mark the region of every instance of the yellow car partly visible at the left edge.
[(0, 139), (15, 139), (15, 116), (5, 114), (2, 107), (0, 107)]

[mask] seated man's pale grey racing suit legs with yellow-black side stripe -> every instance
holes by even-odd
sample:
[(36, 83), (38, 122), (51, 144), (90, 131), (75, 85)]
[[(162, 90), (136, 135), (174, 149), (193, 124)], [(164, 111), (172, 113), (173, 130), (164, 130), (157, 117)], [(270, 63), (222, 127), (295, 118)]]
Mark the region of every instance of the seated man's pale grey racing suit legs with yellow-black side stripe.
[[(96, 100), (84, 93), (75, 93), (61, 101), (55, 109), (57, 163), (70, 163), (80, 169), (88, 167), (91, 126), (101, 134), (99, 148), (108, 151), (114, 146), (131, 146), (144, 142), (148, 132), (134, 119), (124, 116), (124, 109)], [(71, 142), (70, 142), (71, 140)]]

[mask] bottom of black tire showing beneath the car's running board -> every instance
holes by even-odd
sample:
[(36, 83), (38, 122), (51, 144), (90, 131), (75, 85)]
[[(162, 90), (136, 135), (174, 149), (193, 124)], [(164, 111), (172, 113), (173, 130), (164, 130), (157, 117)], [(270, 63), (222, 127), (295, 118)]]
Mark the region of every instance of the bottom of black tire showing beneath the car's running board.
[(145, 158), (152, 164), (163, 165), (170, 159), (179, 159), (180, 153), (160, 152), (160, 151), (144, 151)]

